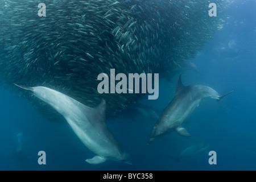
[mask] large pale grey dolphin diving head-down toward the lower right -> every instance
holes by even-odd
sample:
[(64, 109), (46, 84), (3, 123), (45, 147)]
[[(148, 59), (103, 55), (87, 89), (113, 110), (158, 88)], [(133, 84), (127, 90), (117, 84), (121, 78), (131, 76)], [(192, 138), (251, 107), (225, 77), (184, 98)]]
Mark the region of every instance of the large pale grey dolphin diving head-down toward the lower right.
[(126, 153), (106, 126), (105, 100), (102, 100), (97, 107), (92, 108), (81, 104), (63, 93), (44, 86), (16, 86), (32, 91), (34, 96), (47, 102), (63, 115), (82, 143), (90, 151), (97, 154), (92, 159), (86, 159), (86, 162), (100, 164), (106, 160), (113, 160), (115, 162), (131, 164), (129, 154)]

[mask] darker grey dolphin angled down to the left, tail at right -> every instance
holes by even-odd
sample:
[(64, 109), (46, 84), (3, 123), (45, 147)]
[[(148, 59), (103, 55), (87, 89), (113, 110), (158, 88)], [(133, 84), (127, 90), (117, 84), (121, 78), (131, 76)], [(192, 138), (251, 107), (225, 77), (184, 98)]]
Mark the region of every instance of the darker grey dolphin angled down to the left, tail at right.
[[(232, 93), (233, 91), (234, 90), (229, 93)], [(218, 94), (214, 89), (205, 85), (184, 86), (181, 82), (181, 75), (179, 75), (179, 79), (176, 84), (175, 96), (156, 122), (153, 130), (151, 131), (148, 144), (156, 137), (171, 133), (171, 131), (176, 131), (184, 137), (189, 137), (190, 134), (184, 127), (181, 127), (181, 125), (192, 111), (199, 106), (200, 101), (204, 98), (221, 100), (221, 98), (228, 94), (220, 96), (220, 94)]]

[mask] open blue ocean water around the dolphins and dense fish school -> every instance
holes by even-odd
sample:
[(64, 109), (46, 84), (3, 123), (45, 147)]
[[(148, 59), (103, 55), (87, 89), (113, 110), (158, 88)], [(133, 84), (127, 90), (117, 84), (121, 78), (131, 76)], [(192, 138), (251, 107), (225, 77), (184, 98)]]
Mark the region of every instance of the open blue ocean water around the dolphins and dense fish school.
[[(256, 1), (234, 1), (226, 10), (226, 22), (192, 61), (200, 73), (182, 74), (184, 85), (203, 84), (226, 96), (220, 102), (207, 99), (185, 123), (191, 137), (165, 135), (147, 145), (154, 123), (125, 115), (108, 121), (109, 129), (130, 154), (132, 165), (107, 161), (92, 165), (94, 154), (71, 127), (49, 122), (28, 101), (9, 89), (0, 90), (1, 170), (255, 170), (256, 169)], [(174, 97), (175, 82), (160, 80), (158, 100), (141, 104), (164, 109)], [(18, 143), (17, 134), (20, 136)], [(192, 144), (207, 143), (205, 150), (179, 158)], [(17, 147), (22, 152), (16, 152)], [(46, 165), (38, 164), (38, 152), (46, 152)], [(210, 165), (209, 151), (217, 164)], [(179, 158), (179, 161), (177, 160)]]

